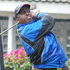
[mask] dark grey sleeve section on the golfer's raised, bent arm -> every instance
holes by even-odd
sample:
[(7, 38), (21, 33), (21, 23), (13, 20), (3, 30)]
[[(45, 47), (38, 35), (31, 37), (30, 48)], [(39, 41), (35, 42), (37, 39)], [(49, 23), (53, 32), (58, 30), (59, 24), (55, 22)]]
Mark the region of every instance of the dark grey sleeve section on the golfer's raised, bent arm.
[(42, 29), (40, 30), (37, 37), (35, 38), (35, 41), (37, 41), (41, 37), (45, 36), (48, 32), (50, 32), (55, 24), (55, 21), (52, 16), (43, 15), (40, 17), (40, 19), (42, 18), (43, 18)]

